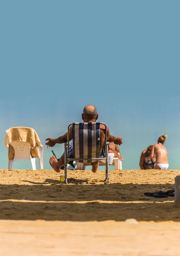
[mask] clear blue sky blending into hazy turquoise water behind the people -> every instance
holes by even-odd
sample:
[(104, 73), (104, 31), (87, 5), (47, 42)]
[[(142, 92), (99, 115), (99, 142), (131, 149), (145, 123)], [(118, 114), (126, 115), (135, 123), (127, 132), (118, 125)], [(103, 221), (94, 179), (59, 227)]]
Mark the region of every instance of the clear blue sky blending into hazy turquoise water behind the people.
[[(0, 168), (6, 129), (32, 127), (44, 145), (93, 104), (123, 139), (123, 169), (139, 169), (163, 133), (169, 168), (180, 169), (179, 10), (177, 0), (0, 1)], [(46, 169), (51, 155), (44, 147)]]

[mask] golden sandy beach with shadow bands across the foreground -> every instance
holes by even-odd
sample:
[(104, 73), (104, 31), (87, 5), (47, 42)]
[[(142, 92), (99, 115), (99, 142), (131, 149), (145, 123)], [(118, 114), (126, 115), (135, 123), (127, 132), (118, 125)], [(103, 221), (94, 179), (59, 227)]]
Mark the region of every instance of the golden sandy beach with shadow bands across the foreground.
[(2, 255), (179, 255), (180, 205), (144, 195), (173, 189), (179, 173), (110, 171), (106, 184), (103, 170), (68, 170), (66, 185), (52, 170), (1, 169)]

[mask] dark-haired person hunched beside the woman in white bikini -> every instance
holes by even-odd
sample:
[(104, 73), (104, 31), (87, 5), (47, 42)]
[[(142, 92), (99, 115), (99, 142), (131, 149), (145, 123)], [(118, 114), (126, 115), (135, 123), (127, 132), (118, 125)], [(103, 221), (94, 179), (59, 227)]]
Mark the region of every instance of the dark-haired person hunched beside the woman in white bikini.
[(139, 166), (142, 170), (154, 169), (154, 163), (156, 162), (156, 158), (151, 157), (152, 145), (148, 146), (145, 150), (142, 151), (141, 157), (139, 160)]

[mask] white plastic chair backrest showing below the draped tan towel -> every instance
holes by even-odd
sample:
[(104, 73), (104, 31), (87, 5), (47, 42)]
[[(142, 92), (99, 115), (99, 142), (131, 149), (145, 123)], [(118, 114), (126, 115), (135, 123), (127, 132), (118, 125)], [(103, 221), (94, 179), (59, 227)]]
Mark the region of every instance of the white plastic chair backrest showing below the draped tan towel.
[(14, 140), (9, 144), (15, 150), (14, 160), (31, 160), (31, 145), (29, 142)]

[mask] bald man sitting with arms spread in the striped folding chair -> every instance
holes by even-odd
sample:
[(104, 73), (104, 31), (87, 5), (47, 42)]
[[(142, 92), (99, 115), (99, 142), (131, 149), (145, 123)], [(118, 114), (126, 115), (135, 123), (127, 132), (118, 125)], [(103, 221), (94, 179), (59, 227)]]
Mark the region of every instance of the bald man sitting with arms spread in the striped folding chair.
[[(99, 114), (97, 113), (97, 109), (93, 105), (87, 105), (83, 113), (81, 115), (82, 120), (84, 122), (96, 122), (96, 120), (99, 117)], [(69, 134), (69, 140), (73, 139), (73, 127), (70, 127), (70, 134)], [(57, 139), (53, 138), (47, 138), (46, 139), (46, 145), (49, 147), (53, 147), (56, 143), (61, 144), (64, 142), (67, 142), (67, 133), (64, 134), (63, 136), (58, 137)], [(107, 141), (109, 142), (114, 142), (115, 144), (122, 144), (122, 138), (121, 137), (113, 137), (110, 135), (109, 128), (107, 127)], [(104, 146), (105, 146), (105, 125), (100, 125), (100, 147), (99, 147), (99, 152), (101, 154), (99, 157), (104, 157)], [(69, 155), (71, 158), (73, 158), (73, 143), (70, 143), (69, 145)], [(59, 160), (55, 158), (55, 156), (50, 157), (49, 163), (52, 166), (52, 168), (56, 172), (61, 171), (61, 166), (64, 166), (64, 154), (60, 157)], [(97, 172), (98, 166), (99, 166), (99, 161), (92, 162), (92, 172)]]

